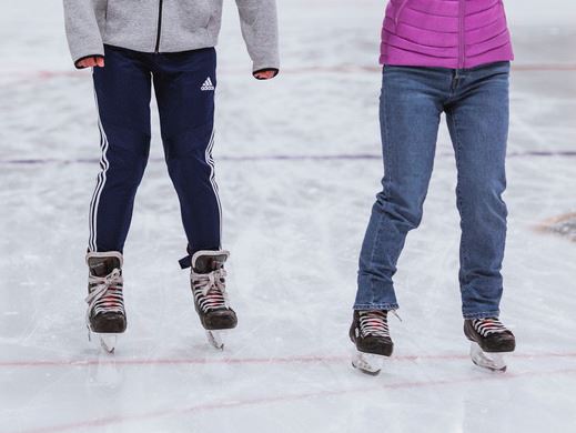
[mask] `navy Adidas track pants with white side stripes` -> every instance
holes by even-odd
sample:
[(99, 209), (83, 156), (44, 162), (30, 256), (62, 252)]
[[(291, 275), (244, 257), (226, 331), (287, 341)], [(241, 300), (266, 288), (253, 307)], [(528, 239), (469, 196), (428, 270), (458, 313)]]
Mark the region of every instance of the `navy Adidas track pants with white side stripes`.
[(213, 48), (156, 54), (105, 47), (105, 67), (93, 70), (102, 159), (90, 203), (89, 251), (123, 250), (150, 153), (152, 83), (188, 252), (220, 249), (221, 207), (211, 154), (215, 69)]

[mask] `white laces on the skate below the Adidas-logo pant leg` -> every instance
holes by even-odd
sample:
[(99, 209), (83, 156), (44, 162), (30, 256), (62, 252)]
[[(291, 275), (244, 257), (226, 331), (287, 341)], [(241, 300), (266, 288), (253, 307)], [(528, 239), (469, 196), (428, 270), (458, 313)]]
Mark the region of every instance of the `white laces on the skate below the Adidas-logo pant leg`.
[(191, 273), (194, 299), (202, 311), (228, 309), (226, 271), (220, 268), (210, 273)]

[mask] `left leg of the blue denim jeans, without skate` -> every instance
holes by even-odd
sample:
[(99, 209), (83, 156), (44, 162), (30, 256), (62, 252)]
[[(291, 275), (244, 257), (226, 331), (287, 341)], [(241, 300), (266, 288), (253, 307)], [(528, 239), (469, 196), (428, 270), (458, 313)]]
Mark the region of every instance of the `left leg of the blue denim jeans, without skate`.
[(422, 220), (445, 79), (439, 70), (384, 68), (380, 104), (383, 190), (362, 245), (355, 310), (398, 308), (392, 278), (407, 232)]

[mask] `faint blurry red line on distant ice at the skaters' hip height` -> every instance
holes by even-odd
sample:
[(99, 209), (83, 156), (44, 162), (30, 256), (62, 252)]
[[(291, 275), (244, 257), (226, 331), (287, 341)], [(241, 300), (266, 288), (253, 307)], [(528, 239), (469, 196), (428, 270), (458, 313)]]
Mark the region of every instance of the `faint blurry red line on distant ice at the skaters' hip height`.
[[(381, 72), (381, 66), (348, 66), (348, 64), (337, 64), (337, 66), (325, 66), (325, 67), (307, 67), (307, 68), (286, 68), (281, 70), (282, 75), (297, 75), (297, 74), (309, 74), (309, 73), (376, 73)], [(573, 63), (525, 63), (525, 64), (515, 64), (512, 63), (513, 72), (572, 72), (576, 71), (576, 64)], [(234, 69), (223, 69), (219, 71), (220, 75), (249, 75), (250, 71), (243, 68), (234, 68)], [(18, 77), (19, 79), (12, 82), (2, 82), (2, 85), (8, 84), (21, 84), (33, 82), (34, 80), (51, 80), (54, 78), (70, 77), (70, 78), (80, 78), (88, 77), (87, 72), (79, 72), (74, 70), (41, 70), (33, 73), (22, 72), (22, 71), (8, 71), (4, 73), (0, 73), (0, 78), (8, 77), (9, 79), (12, 77)]]

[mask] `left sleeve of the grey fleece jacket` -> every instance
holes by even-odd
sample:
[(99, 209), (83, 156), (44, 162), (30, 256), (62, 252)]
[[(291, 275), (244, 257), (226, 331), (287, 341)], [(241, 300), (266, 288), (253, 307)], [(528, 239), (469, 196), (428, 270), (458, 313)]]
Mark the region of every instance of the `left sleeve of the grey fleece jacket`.
[(103, 57), (104, 46), (92, 0), (63, 0), (68, 46), (74, 66), (88, 57)]

